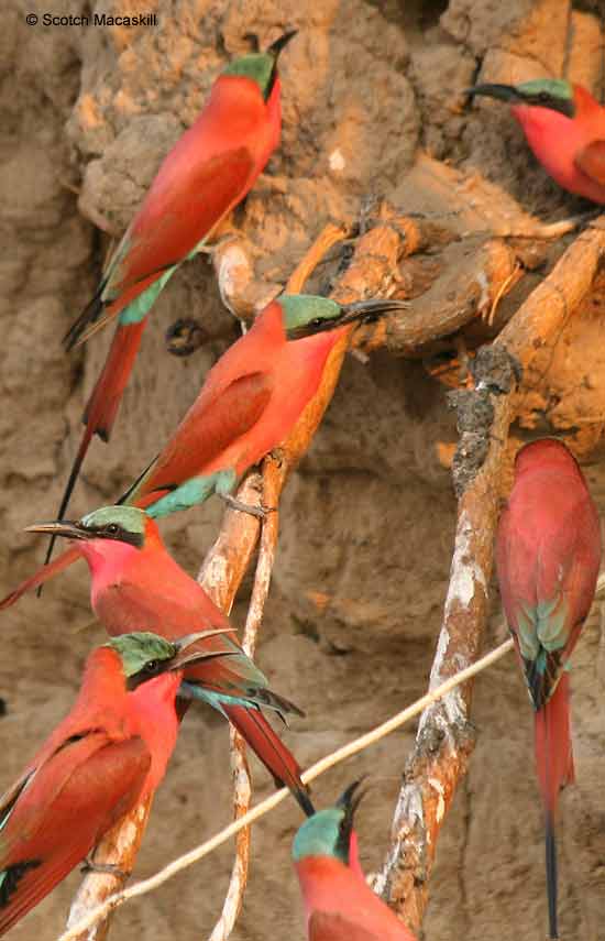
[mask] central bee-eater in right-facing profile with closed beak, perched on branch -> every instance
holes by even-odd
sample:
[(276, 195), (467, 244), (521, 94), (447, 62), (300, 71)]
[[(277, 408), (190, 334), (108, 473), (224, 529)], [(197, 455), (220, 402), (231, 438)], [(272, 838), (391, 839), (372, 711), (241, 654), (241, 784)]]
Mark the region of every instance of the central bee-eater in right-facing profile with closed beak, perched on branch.
[(120, 502), (152, 517), (217, 493), (279, 445), (317, 393), (328, 355), (350, 324), (406, 307), (403, 300), (337, 304), (285, 294), (210, 370), (175, 434)]

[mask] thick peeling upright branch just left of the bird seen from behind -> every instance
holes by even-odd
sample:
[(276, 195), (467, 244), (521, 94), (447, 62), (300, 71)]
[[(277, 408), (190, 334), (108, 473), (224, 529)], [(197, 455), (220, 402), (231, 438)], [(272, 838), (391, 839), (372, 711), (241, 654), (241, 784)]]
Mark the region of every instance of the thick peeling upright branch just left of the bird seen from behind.
[[(459, 497), (454, 551), (430, 689), (473, 664), (487, 616), (487, 586), (506, 462), (514, 393), (537, 353), (557, 342), (600, 270), (605, 231), (598, 227), (568, 249), (473, 366), (474, 389), (455, 394), (460, 440), (453, 464)], [(421, 715), (404, 772), (392, 844), (375, 888), (413, 930), (421, 923), (437, 841), (473, 748), (469, 726), (472, 683), (453, 690)]]

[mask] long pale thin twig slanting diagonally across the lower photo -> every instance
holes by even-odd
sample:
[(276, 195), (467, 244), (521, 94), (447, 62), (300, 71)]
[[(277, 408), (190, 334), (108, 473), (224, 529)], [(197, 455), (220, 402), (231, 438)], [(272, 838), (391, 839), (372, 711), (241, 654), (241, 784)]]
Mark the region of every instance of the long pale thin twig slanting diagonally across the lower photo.
[[(341, 764), (346, 761), (346, 758), (352, 757), (353, 755), (363, 752), (365, 748), (371, 745), (380, 742), (381, 738), (384, 738), (385, 735), (389, 735), (392, 732), (395, 732), (396, 729), (400, 729), (402, 725), (405, 725), (407, 722), (410, 722), (417, 715), (419, 715), (424, 710), (428, 709), (430, 705), (435, 704), (439, 699), (447, 697), (451, 693), (460, 683), (466, 682), (466, 680), (476, 676), (476, 674), (486, 669), (487, 667), (495, 664), (506, 654), (508, 654), (513, 649), (513, 639), (505, 641), (504, 644), (501, 644), (499, 647), (496, 647), (491, 653), (486, 654), (480, 660), (474, 663), (472, 666), (468, 667), (465, 670), (461, 670), (461, 672), (457, 674), (453, 677), (450, 677), (446, 682), (441, 683), (437, 689), (431, 692), (426, 693), (411, 705), (408, 705), (402, 712), (398, 712), (396, 715), (387, 719), (386, 722), (383, 722), (381, 725), (372, 729), (370, 732), (366, 732), (364, 735), (360, 735), (359, 738), (354, 738), (352, 742), (349, 742), (348, 745), (343, 745), (341, 748), (337, 748), (336, 752), (332, 752), (330, 755), (327, 755), (321, 761), (316, 762), (308, 770), (302, 774), (302, 780), (305, 784), (309, 784), (315, 778), (324, 774), (330, 768), (333, 768), (336, 765)], [(136, 898), (142, 895), (146, 895), (150, 891), (153, 891), (158, 886), (163, 885), (168, 879), (176, 876), (178, 873), (183, 872), (183, 869), (188, 868), (194, 865), (194, 863), (199, 862), (218, 846), (226, 843), (231, 836), (234, 836), (240, 832), (244, 827), (249, 827), (254, 821), (258, 820), (261, 817), (264, 817), (270, 810), (273, 810), (274, 807), (282, 803), (288, 797), (289, 791), (286, 788), (282, 788), (275, 794), (271, 795), (271, 797), (265, 798), (265, 800), (257, 803), (252, 810), (245, 813), (243, 817), (240, 817), (238, 820), (234, 820), (229, 827), (226, 827), (210, 840), (207, 840), (205, 843), (201, 843), (199, 846), (196, 846), (194, 850), (190, 850), (188, 853), (179, 856), (176, 860), (173, 860), (172, 863), (168, 863), (167, 866), (164, 866), (155, 875), (151, 876), (148, 879), (142, 879), (130, 888), (124, 889), (123, 891), (117, 893), (116, 895), (108, 898), (102, 905), (98, 908), (89, 911), (86, 918), (84, 918), (78, 924), (76, 924), (70, 931), (65, 931), (59, 938), (58, 941), (75, 941), (79, 933), (86, 931), (92, 924), (95, 924), (99, 919), (105, 918), (109, 915), (110, 911), (113, 911), (119, 906), (123, 905), (131, 898)]]

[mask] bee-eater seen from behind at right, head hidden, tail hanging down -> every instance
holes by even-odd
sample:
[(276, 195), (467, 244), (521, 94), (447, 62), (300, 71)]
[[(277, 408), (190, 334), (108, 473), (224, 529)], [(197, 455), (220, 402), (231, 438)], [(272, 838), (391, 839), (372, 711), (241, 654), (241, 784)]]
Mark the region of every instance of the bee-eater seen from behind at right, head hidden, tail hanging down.
[(546, 817), (550, 938), (557, 929), (554, 816), (574, 780), (569, 659), (591, 609), (601, 562), (596, 507), (560, 441), (521, 448), (496, 539), (502, 602), (535, 710), (536, 764)]

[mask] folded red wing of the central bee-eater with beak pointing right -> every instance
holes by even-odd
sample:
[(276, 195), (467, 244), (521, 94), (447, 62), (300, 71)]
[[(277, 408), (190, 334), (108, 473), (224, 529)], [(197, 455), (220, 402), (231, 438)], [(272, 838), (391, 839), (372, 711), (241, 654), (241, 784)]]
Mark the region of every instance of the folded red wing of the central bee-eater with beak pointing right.
[[(205, 468), (261, 419), (274, 389), (272, 372), (250, 372), (233, 380), (217, 395), (196, 403), (176, 434), (145, 470), (128, 496), (129, 503), (148, 506), (143, 497), (175, 490)], [(227, 470), (228, 468), (226, 468)]]

